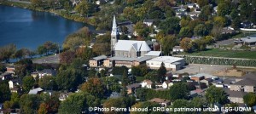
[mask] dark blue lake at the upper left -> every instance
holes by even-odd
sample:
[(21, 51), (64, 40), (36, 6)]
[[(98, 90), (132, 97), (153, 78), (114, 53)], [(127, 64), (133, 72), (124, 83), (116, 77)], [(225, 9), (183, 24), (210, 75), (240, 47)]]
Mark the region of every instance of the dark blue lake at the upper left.
[(62, 43), (68, 34), (87, 26), (59, 15), (0, 5), (0, 46), (36, 49), (47, 41)]

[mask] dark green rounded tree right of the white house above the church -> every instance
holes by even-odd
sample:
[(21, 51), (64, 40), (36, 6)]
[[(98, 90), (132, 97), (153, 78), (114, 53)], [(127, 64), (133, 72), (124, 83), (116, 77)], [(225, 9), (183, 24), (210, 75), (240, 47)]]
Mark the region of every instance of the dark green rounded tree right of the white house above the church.
[(180, 19), (177, 17), (168, 18), (160, 23), (160, 29), (165, 31), (166, 34), (178, 33)]

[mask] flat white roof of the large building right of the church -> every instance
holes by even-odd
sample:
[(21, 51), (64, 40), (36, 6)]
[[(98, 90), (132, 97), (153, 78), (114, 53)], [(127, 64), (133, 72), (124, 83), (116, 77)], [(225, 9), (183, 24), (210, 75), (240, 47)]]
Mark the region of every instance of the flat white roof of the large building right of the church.
[(158, 62), (164, 62), (164, 63), (174, 63), (177, 62), (178, 60), (184, 60), (183, 58), (178, 58), (178, 57), (172, 57), (172, 56), (160, 56), (153, 58), (148, 61), (158, 61)]

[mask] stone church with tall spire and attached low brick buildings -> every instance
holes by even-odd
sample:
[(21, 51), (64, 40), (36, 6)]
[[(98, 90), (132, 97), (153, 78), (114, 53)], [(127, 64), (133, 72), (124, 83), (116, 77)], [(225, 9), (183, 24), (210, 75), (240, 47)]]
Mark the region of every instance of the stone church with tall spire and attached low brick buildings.
[(119, 40), (119, 28), (115, 16), (111, 31), (111, 56), (103, 55), (90, 59), (91, 67), (113, 67), (113, 66), (139, 66), (146, 64), (146, 60), (160, 56), (160, 51), (151, 51), (145, 41)]

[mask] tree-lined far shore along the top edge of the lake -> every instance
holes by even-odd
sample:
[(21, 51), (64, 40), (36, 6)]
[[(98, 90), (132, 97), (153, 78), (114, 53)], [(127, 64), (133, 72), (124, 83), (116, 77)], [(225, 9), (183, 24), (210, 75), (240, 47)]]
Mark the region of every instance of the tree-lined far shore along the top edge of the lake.
[(19, 7), (22, 9), (30, 9), (34, 11), (41, 11), (41, 12), (49, 12), (52, 14), (60, 15), (61, 17), (68, 19), (68, 20), (74, 20), (77, 22), (82, 22), (85, 24), (89, 24), (90, 26), (95, 26), (93, 23), (93, 19), (86, 19), (84, 17), (81, 17), (79, 14), (67, 14), (65, 10), (63, 9), (34, 9), (31, 7), (29, 3), (18, 3), (18, 2), (11, 2), (11, 1), (3, 1), (0, 2), (0, 5), (7, 5), (7, 6), (12, 6), (12, 7)]

